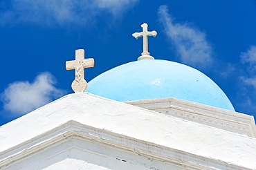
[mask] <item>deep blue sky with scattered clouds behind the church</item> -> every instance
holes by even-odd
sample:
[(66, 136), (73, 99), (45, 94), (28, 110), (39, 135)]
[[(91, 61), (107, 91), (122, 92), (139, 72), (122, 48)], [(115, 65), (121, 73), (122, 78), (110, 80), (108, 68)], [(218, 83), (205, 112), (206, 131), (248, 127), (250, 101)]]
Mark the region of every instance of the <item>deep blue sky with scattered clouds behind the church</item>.
[(85, 79), (149, 53), (200, 70), (235, 110), (256, 115), (256, 1), (0, 0), (0, 125), (73, 93), (65, 62), (83, 48)]

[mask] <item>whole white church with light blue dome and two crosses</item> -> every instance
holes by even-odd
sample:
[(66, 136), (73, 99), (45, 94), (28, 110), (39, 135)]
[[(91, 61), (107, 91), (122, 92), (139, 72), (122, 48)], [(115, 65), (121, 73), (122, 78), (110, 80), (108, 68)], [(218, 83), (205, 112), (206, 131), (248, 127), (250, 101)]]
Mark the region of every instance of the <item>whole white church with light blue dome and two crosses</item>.
[(199, 70), (152, 57), (157, 32), (141, 27), (138, 60), (88, 84), (94, 59), (75, 50), (75, 93), (0, 127), (0, 169), (256, 169), (254, 117)]

